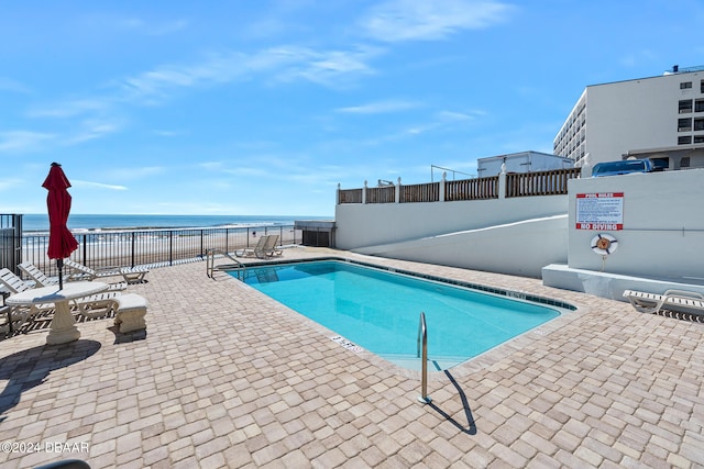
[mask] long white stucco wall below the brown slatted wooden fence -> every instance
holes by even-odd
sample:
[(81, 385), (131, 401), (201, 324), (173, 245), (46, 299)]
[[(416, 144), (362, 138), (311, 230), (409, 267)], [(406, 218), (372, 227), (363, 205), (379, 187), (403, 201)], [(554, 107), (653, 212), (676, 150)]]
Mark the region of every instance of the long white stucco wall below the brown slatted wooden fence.
[(337, 247), (540, 277), (566, 263), (566, 196), (497, 200), (339, 204)]

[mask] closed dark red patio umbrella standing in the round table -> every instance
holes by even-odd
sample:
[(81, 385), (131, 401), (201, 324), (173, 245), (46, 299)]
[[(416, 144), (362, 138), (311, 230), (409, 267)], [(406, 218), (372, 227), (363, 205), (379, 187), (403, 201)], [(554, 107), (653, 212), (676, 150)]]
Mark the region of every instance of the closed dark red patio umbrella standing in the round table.
[(66, 189), (70, 182), (66, 178), (62, 165), (52, 163), (48, 176), (42, 185), (48, 190), (46, 196), (46, 206), (48, 209), (48, 249), (46, 255), (50, 259), (56, 259), (58, 267), (58, 288), (64, 288), (64, 258), (70, 256), (76, 250), (78, 242), (68, 231), (68, 213), (70, 212), (70, 194)]

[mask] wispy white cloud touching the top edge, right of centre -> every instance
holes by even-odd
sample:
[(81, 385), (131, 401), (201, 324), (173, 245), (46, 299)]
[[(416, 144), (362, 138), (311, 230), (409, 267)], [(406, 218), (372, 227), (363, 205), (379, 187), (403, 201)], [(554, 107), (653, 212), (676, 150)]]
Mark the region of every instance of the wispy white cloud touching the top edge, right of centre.
[(437, 41), (462, 30), (492, 26), (512, 11), (512, 5), (497, 1), (391, 0), (371, 10), (362, 29), (366, 36), (384, 42)]

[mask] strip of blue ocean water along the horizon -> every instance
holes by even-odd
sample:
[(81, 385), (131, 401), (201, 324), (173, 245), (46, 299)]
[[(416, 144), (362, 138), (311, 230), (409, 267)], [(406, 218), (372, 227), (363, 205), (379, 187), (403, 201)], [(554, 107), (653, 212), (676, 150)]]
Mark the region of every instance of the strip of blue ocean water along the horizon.
[[(85, 215), (70, 214), (68, 228), (85, 230), (143, 230), (184, 228), (213, 226), (272, 226), (293, 225), (296, 220), (331, 220), (332, 216), (287, 216), (287, 215)], [(24, 232), (48, 231), (48, 215), (24, 214)]]

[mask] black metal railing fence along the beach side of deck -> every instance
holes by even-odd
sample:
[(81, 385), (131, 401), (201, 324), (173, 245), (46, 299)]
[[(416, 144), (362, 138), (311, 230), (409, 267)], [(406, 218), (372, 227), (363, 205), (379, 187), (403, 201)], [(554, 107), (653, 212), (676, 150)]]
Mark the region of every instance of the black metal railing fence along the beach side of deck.
[[(260, 236), (278, 235), (277, 245), (299, 244), (302, 232), (294, 225), (97, 231), (74, 233), (78, 241), (70, 258), (94, 269), (106, 267), (170, 266), (206, 258), (209, 249), (234, 253), (253, 246)], [(24, 233), (21, 260), (56, 276), (56, 261), (46, 256), (48, 233)], [(11, 267), (4, 265), (0, 267)], [(15, 273), (16, 268), (11, 268)]]

